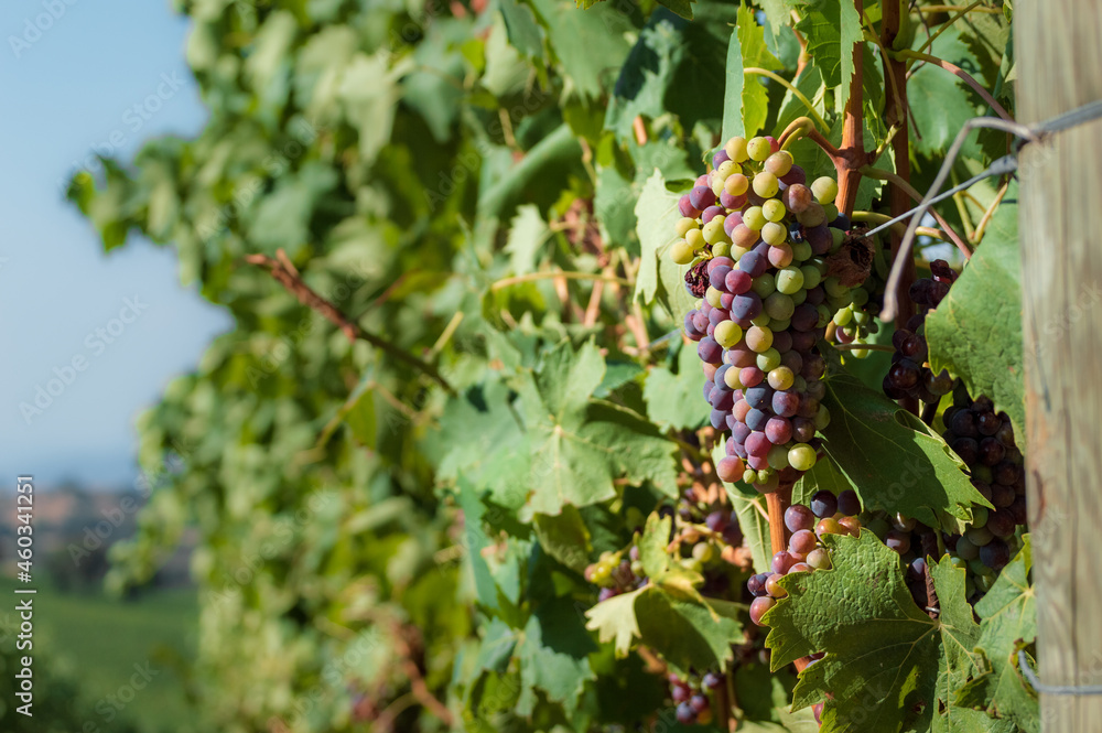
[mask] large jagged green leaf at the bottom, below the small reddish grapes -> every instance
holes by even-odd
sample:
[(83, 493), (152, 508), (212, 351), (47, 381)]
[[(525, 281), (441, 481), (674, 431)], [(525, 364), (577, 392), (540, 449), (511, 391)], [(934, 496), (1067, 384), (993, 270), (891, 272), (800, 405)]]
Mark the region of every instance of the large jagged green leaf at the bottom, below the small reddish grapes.
[(911, 599), (899, 556), (875, 535), (828, 535), (824, 543), (833, 569), (785, 576), (788, 597), (765, 615), (773, 669), (825, 653), (800, 675), (792, 702), (825, 701), (823, 733), (925, 730), (943, 699), (941, 681), (972, 668), (979, 626), (964, 601), (964, 571), (948, 557), (930, 567), (941, 603), (930, 618)]

